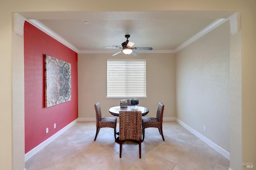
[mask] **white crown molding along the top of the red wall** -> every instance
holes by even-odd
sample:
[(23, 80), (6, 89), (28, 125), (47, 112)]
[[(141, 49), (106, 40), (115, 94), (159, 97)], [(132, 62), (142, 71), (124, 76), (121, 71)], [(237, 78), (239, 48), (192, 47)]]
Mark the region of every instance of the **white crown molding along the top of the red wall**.
[(70, 44), (68, 41), (66, 41), (65, 39), (60, 37), (58, 34), (56, 34), (54, 31), (52, 31), (51, 29), (49, 29), (48, 27), (43, 25), (38, 20), (27, 20), (27, 21), (29, 23), (31, 23), (32, 25), (34, 25), (35, 27), (37, 27), (38, 29), (40, 29), (41, 31), (43, 31), (44, 33), (46, 33), (47, 35), (50, 35), (52, 38), (56, 39), (57, 41), (59, 41), (60, 43), (62, 43), (64, 45), (66, 45), (68, 48), (72, 49), (76, 53), (79, 52), (79, 50), (74, 45)]

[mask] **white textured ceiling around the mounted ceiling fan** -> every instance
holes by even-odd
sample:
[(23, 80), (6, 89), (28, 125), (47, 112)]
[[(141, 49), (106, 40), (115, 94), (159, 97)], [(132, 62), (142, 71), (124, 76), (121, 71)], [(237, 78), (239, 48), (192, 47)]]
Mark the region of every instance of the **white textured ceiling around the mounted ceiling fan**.
[[(175, 52), (188, 39), (228, 18), (234, 12), (20, 12), (27, 20), (43, 24), (78, 53), (116, 53), (105, 49), (121, 45), (130, 35), (134, 47), (152, 47), (150, 51)], [(39, 22), (38, 22), (39, 21)], [(88, 21), (89, 24), (84, 24)], [(217, 22), (218, 23), (218, 22)], [(137, 51), (144, 53), (148, 51)]]

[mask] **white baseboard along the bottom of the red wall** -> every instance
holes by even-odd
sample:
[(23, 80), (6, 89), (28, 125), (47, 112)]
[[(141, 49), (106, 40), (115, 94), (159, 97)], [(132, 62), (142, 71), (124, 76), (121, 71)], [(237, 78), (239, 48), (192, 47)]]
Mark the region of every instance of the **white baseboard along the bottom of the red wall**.
[(76, 124), (76, 122), (78, 122), (78, 119), (72, 121), (71, 123), (69, 123), (68, 125), (66, 125), (64, 128), (60, 129), (57, 133), (55, 133), (54, 135), (52, 135), (51, 137), (49, 137), (48, 139), (46, 139), (45, 141), (43, 141), (42, 143), (40, 143), (38, 146), (36, 146), (34, 149), (30, 150), (28, 153), (25, 154), (25, 162), (31, 158), (32, 156), (34, 156), (37, 152), (39, 152), (40, 150), (44, 149), (44, 147), (46, 147), (49, 143), (51, 143), (54, 139), (56, 139), (57, 137), (59, 137), (62, 133), (64, 133), (66, 130), (68, 130), (71, 126), (73, 126), (74, 124)]

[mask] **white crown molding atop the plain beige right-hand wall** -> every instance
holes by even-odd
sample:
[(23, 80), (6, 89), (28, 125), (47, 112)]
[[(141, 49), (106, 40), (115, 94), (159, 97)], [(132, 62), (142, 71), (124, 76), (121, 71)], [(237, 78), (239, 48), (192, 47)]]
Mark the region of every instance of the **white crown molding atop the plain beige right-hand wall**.
[(193, 43), (194, 41), (196, 41), (200, 37), (204, 36), (208, 32), (212, 31), (214, 28), (218, 27), (219, 25), (221, 25), (222, 23), (226, 22), (227, 20), (228, 19), (224, 19), (223, 18), (223, 19), (217, 19), (217, 20), (213, 21), (210, 25), (208, 25), (207, 27), (205, 27), (204, 29), (202, 29), (201, 31), (196, 33), (193, 37), (191, 37), (190, 39), (188, 39), (187, 41), (182, 43), (179, 47), (177, 47), (174, 50), (175, 53), (177, 53), (181, 49), (185, 48), (186, 46), (190, 45), (191, 43)]

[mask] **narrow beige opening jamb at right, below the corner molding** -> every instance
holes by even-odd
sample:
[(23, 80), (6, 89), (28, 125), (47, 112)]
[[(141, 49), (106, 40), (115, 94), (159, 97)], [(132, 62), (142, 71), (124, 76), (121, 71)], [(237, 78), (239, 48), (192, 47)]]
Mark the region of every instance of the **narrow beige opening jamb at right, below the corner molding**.
[[(230, 35), (230, 165), (238, 168), (241, 165), (241, 162), (238, 160), (242, 161), (241, 32), (239, 31), (234, 35)], [(248, 158), (244, 158), (243, 160), (246, 159)]]

